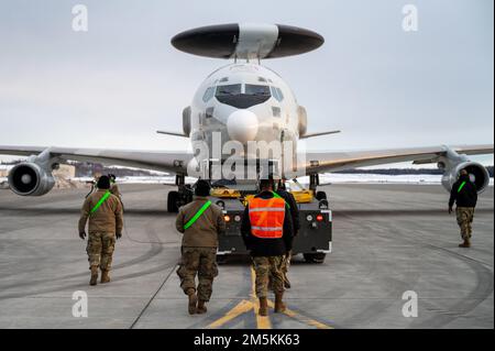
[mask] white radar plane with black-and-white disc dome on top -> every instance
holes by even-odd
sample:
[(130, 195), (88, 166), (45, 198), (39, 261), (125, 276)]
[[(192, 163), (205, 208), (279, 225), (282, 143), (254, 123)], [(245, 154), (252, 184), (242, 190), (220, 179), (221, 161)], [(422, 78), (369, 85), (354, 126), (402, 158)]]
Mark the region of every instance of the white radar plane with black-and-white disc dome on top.
[[(212, 146), (213, 134), (222, 143), (237, 141), (289, 140), (331, 134), (338, 131), (308, 133), (307, 116), (289, 86), (275, 72), (261, 65), (262, 59), (297, 55), (323, 44), (323, 37), (312, 31), (279, 24), (223, 24), (198, 28), (179, 33), (172, 44), (186, 53), (233, 59), (199, 86), (193, 102), (183, 112), (183, 132), (160, 133), (190, 138), (191, 143)], [(304, 67), (301, 68), (304, 69)], [(322, 97), (323, 98), (323, 97)], [(444, 171), (442, 184), (450, 190), (461, 169), (468, 169), (480, 191), (488, 185), (488, 173), (468, 155), (493, 153), (493, 144), (462, 146), (431, 146), (360, 152), (305, 153), (305, 174), (316, 189), (318, 174), (413, 161), (416, 164), (437, 163)], [(296, 151), (294, 151), (296, 152)], [(10, 188), (21, 196), (41, 196), (55, 184), (52, 176), (61, 163), (67, 161), (97, 162), (156, 169), (176, 175), (178, 191), (168, 195), (168, 208), (189, 198), (185, 187), (188, 165), (201, 164), (210, 155), (188, 152), (132, 151), (103, 149), (72, 149), (55, 146), (0, 145), (0, 154), (29, 156), (9, 174)], [(296, 157), (297, 158), (297, 157)]]

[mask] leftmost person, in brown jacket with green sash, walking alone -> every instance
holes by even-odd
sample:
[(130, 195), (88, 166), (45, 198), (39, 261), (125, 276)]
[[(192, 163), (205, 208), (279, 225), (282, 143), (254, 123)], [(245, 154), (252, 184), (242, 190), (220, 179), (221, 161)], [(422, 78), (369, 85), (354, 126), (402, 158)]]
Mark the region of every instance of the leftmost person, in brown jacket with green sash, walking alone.
[[(79, 219), (79, 238), (86, 238), (86, 223), (89, 219), (89, 237), (86, 252), (88, 254), (89, 270), (91, 271), (90, 285), (98, 281), (98, 268), (101, 270), (101, 283), (110, 282), (110, 270), (116, 248), (116, 239), (122, 237), (122, 207), (114, 195), (97, 205), (110, 189), (110, 179), (101, 176), (98, 179), (98, 191), (86, 198)], [(96, 210), (95, 210), (96, 209)]]

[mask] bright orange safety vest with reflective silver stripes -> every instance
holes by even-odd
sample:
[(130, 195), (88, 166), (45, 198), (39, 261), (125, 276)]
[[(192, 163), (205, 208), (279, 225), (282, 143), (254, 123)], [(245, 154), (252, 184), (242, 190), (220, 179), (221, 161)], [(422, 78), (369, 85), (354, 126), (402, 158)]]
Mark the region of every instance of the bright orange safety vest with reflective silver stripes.
[(279, 239), (284, 230), (285, 200), (255, 197), (249, 202), (251, 233), (262, 239)]

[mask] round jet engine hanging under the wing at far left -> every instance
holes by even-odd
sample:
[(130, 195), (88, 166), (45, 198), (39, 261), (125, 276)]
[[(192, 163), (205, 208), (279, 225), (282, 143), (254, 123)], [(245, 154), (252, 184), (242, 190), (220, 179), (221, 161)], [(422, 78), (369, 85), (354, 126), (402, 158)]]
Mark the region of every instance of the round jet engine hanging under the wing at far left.
[(21, 163), (9, 173), (9, 186), (21, 196), (42, 196), (55, 186), (52, 172), (46, 172), (36, 163)]

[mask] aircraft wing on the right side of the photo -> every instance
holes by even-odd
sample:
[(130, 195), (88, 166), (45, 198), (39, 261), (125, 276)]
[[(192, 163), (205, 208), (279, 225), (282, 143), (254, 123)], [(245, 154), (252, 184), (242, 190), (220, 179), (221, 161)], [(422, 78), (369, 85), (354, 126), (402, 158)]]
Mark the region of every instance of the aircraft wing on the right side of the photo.
[(336, 172), (356, 167), (413, 161), (415, 164), (436, 163), (448, 150), (459, 154), (493, 154), (494, 145), (431, 146), (410, 149), (389, 149), (352, 152), (308, 152), (306, 153), (306, 173)]

